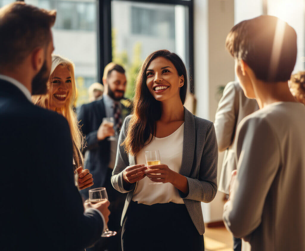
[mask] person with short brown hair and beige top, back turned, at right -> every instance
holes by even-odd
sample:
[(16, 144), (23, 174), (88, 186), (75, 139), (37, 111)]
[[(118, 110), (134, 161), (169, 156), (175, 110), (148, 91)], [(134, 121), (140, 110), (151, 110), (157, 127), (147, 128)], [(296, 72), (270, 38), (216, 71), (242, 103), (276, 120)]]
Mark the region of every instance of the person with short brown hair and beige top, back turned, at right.
[(226, 46), (246, 97), (260, 109), (237, 128), (224, 223), (242, 238), (242, 251), (305, 250), (305, 107), (288, 87), (296, 32), (259, 16), (234, 26)]

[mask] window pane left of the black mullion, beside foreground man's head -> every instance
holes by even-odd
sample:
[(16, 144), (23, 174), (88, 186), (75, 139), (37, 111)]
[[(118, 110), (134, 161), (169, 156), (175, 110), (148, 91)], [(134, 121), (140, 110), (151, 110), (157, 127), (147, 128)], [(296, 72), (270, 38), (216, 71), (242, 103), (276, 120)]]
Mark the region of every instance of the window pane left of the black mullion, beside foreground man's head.
[(54, 53), (75, 64), (76, 106), (88, 103), (88, 87), (97, 81), (96, 1), (26, 0), (26, 3), (57, 10), (52, 28)]

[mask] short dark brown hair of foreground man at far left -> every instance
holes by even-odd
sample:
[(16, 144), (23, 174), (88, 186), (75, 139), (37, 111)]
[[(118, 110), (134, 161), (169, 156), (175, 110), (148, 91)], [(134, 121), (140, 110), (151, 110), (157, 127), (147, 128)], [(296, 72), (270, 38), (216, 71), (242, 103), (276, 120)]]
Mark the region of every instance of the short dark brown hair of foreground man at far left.
[(35, 48), (51, 40), (56, 11), (14, 2), (0, 9), (0, 67), (22, 62)]

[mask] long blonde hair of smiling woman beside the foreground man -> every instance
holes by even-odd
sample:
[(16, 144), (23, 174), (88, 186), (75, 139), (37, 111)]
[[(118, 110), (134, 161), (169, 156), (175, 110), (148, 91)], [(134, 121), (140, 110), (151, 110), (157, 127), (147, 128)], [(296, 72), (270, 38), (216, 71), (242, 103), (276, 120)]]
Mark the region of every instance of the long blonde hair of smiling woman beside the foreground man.
[[(71, 83), (72, 83), (72, 93), (70, 97), (66, 100), (63, 108), (56, 108), (55, 111), (63, 115), (68, 121), (70, 127), (70, 133), (73, 143), (73, 159), (76, 167), (83, 166), (84, 159), (81, 154), (81, 150), (84, 147), (84, 137), (81, 133), (80, 127), (78, 125), (77, 117), (73, 111), (73, 103), (76, 98), (76, 85), (74, 77), (74, 63), (69, 59), (63, 58), (59, 55), (52, 55), (52, 67), (50, 76), (54, 76), (54, 71), (58, 65), (67, 67), (71, 73)], [(43, 108), (50, 109), (49, 98), (50, 93), (52, 93), (52, 84), (48, 81), (48, 93), (46, 95), (33, 95), (32, 101)], [(52, 95), (52, 94), (51, 94)]]

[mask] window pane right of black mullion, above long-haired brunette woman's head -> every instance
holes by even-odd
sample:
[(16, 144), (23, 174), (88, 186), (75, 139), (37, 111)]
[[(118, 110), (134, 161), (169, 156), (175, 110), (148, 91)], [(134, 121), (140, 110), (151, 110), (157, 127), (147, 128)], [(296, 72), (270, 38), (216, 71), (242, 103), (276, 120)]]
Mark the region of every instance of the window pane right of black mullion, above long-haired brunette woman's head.
[(126, 69), (126, 97), (133, 97), (136, 74), (153, 51), (179, 54), (189, 70), (188, 7), (113, 0), (111, 18), (112, 56)]

